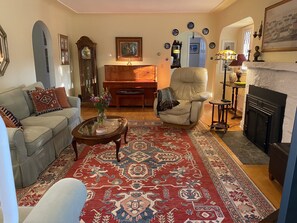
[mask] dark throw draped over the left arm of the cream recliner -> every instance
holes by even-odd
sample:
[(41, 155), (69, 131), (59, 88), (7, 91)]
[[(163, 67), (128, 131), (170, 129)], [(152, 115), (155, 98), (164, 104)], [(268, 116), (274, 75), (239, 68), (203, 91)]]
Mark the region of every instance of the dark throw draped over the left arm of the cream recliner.
[(170, 87), (158, 90), (158, 111), (172, 109), (174, 106), (177, 105), (179, 105), (179, 102)]

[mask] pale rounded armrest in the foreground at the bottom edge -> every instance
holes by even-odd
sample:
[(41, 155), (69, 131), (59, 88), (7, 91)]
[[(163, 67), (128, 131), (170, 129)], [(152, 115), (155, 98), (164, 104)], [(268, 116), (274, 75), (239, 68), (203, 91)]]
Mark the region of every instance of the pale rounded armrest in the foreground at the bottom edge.
[(24, 223), (78, 223), (86, 198), (87, 190), (81, 181), (64, 178), (45, 193)]

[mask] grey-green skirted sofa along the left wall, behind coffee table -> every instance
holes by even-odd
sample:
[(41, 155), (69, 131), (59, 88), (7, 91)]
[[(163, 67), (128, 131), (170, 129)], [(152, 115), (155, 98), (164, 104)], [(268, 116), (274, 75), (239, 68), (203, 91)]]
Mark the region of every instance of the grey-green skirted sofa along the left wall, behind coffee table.
[(81, 122), (80, 100), (68, 97), (71, 108), (34, 114), (27, 91), (41, 82), (0, 93), (0, 105), (20, 120), (23, 129), (7, 128), (16, 188), (36, 182), (38, 176), (71, 144), (72, 129)]

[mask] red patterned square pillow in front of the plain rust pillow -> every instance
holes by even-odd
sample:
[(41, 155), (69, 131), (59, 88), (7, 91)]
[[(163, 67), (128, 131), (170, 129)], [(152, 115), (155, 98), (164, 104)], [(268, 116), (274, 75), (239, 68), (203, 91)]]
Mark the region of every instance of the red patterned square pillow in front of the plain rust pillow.
[(62, 109), (54, 89), (33, 90), (29, 95), (36, 115)]

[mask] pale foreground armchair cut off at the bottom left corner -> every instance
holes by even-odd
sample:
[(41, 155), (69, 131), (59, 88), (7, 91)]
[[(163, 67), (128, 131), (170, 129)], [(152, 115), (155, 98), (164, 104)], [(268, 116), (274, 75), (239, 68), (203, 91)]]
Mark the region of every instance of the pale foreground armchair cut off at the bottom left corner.
[(74, 178), (55, 183), (35, 207), (18, 207), (7, 129), (0, 117), (0, 223), (79, 222), (87, 190)]

